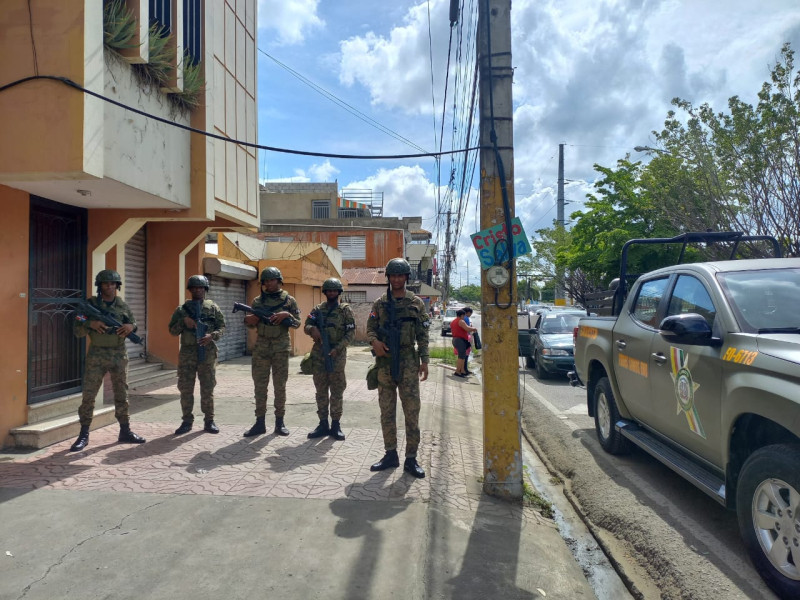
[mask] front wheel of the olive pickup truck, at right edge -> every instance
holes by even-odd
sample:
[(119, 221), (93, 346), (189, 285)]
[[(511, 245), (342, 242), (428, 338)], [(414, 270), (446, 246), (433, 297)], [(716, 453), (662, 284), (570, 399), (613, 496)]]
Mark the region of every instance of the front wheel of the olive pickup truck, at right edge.
[(736, 512), (750, 560), (781, 598), (800, 598), (800, 446), (756, 450), (739, 475)]

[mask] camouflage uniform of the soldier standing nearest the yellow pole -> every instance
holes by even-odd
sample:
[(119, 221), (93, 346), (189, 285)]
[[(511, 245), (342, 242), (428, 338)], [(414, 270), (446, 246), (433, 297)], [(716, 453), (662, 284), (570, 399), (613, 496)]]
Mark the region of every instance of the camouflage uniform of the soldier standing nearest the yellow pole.
[[(391, 293), (391, 292), (389, 292)], [(372, 305), (367, 320), (367, 341), (388, 344), (381, 329), (389, 322), (388, 296), (383, 294)], [(392, 380), (391, 357), (377, 357), (378, 404), (381, 409), (383, 444), (387, 452), (397, 450), (397, 395), (403, 406), (406, 423), (406, 458), (417, 455), (419, 447), (419, 365), (428, 362), (428, 329), (430, 316), (425, 304), (413, 292), (395, 299), (395, 318), (400, 328), (400, 381)], [(416, 343), (416, 349), (414, 347)]]

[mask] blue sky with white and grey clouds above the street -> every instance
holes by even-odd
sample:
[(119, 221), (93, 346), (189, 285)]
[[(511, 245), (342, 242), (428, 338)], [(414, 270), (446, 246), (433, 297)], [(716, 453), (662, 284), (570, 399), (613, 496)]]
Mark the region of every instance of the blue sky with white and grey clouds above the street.
[[(259, 143), (357, 155), (458, 147), (479, 1), (461, 0), (459, 52), (449, 0), (258, 0)], [(515, 214), (530, 237), (556, 218), (559, 144), (568, 217), (593, 189), (594, 164), (647, 160), (633, 148), (655, 144), (673, 98), (717, 111), (734, 95), (755, 103), (781, 46), (800, 50), (800, 2), (513, 0), (511, 28)], [(479, 283), (469, 239), (480, 229), (477, 170), (457, 169), (472, 186), (459, 194), (447, 189), (461, 164), (449, 157), (437, 165), (260, 151), (258, 160), (262, 182), (382, 192), (384, 216), (421, 216), (440, 250), (437, 213), (461, 206), (451, 282)]]

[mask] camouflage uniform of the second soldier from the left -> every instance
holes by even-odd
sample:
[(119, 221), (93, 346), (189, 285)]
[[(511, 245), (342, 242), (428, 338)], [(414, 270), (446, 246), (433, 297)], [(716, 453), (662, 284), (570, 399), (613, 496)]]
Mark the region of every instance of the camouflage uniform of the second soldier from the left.
[(178, 354), (178, 390), (181, 393), (181, 411), (183, 420), (194, 422), (194, 381), (200, 380), (200, 410), (206, 422), (214, 420), (214, 386), (217, 384), (217, 345), (225, 333), (225, 317), (213, 300), (203, 300), (200, 316), (208, 327), (212, 342), (205, 346), (205, 360), (197, 359), (197, 330), (189, 329), (184, 322), (185, 317), (194, 318), (194, 302), (187, 300), (172, 313), (169, 321), (169, 332), (181, 336), (181, 350)]

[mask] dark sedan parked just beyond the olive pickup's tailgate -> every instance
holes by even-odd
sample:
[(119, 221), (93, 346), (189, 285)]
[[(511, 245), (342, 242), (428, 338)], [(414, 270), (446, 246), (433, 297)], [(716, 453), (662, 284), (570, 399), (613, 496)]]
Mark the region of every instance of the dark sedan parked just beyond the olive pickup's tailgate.
[(586, 313), (555, 310), (538, 315), (531, 335), (536, 376), (566, 375), (575, 368), (575, 342), (572, 336)]

